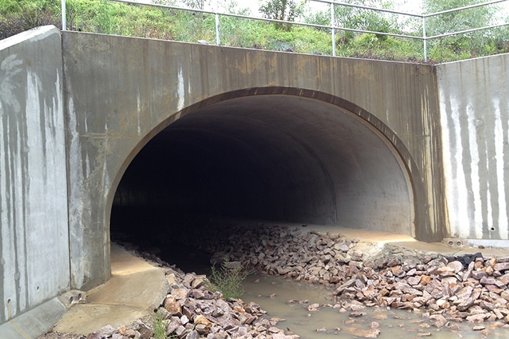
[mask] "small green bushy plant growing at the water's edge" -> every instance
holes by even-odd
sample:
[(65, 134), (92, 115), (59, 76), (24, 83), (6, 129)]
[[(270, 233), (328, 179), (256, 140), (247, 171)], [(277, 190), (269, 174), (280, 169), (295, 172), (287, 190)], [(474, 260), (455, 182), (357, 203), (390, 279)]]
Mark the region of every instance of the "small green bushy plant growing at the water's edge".
[(224, 260), (220, 268), (211, 267), (208, 287), (221, 292), (223, 298), (239, 298), (244, 294), (242, 282), (250, 273), (241, 263)]

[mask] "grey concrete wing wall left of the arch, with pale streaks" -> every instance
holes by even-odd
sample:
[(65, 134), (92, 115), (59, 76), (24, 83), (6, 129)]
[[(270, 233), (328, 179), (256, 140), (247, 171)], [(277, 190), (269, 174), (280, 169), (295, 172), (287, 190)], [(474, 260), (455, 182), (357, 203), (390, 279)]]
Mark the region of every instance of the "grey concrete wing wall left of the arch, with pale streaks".
[(63, 79), (54, 26), (0, 41), (0, 324), (70, 287)]

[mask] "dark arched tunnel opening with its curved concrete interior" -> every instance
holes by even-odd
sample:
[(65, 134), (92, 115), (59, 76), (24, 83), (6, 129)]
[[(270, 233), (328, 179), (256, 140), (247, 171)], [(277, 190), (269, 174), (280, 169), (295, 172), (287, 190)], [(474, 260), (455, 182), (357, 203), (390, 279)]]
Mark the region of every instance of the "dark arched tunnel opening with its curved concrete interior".
[(346, 108), (287, 95), (204, 105), (164, 128), (121, 178), (111, 238), (188, 257), (184, 235), (225, 220), (414, 233), (410, 182), (385, 137)]

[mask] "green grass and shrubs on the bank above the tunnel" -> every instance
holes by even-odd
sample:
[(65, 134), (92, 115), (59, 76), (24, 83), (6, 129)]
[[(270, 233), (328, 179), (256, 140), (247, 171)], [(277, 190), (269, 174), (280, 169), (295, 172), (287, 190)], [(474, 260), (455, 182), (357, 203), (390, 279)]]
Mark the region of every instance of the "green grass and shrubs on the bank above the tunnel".
[[(207, 0), (155, 0), (155, 4), (203, 9)], [(350, 0), (384, 9), (398, 9), (400, 1)], [(479, 4), (480, 0), (424, 0), (427, 13)], [(503, 6), (503, 5), (501, 5)], [(330, 10), (311, 9), (309, 2), (265, 0), (259, 10), (268, 19), (285, 19), (304, 24), (331, 25)], [(236, 0), (222, 1), (221, 12), (248, 16), (251, 10)], [(167, 7), (124, 4), (107, 0), (67, 0), (67, 28), (101, 34), (117, 34), (175, 41), (216, 43), (213, 14), (182, 11)], [(505, 14), (507, 15), (507, 14)], [(420, 18), (401, 19), (397, 14), (335, 6), (335, 25), (388, 34), (422, 36)], [(498, 20), (498, 21), (497, 21)], [(508, 22), (500, 16), (497, 4), (433, 16), (426, 24), (427, 36), (450, 33), (496, 22)], [(4, 0), (0, 4), (0, 39), (35, 26), (61, 27), (60, 0)], [(331, 55), (331, 31), (323, 27), (270, 23), (235, 16), (220, 16), (221, 45), (254, 49), (295, 51)], [(469, 59), (509, 51), (509, 26), (472, 31), (428, 42), (428, 58), (433, 62)], [(336, 32), (336, 55), (398, 61), (423, 61), (423, 42), (383, 34)]]

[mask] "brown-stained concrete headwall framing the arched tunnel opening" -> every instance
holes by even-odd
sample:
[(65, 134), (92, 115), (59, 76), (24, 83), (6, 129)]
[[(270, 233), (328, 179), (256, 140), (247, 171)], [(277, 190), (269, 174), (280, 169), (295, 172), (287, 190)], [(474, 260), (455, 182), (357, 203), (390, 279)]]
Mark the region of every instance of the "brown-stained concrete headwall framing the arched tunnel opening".
[[(413, 183), (415, 236), (440, 240), (443, 206), (428, 65), (288, 54), (63, 32), (69, 121), (71, 275), (74, 288), (109, 274), (109, 213), (125, 168), (146, 141), (194, 104), (302, 88), (355, 103), (353, 113), (389, 136)], [(298, 91), (294, 95), (299, 95)], [(320, 100), (319, 94), (317, 99)], [(355, 111), (358, 107), (364, 110)], [(366, 112), (371, 113), (365, 114)], [(364, 116), (363, 116), (364, 114)], [(375, 121), (376, 120), (376, 121)], [(369, 124), (369, 123), (368, 123)], [(392, 132), (393, 131), (393, 132)], [(391, 133), (389, 133), (391, 132)], [(439, 140), (439, 139), (438, 139)], [(86, 260), (81, 260), (86, 258)], [(81, 260), (81, 261), (80, 261)]]

